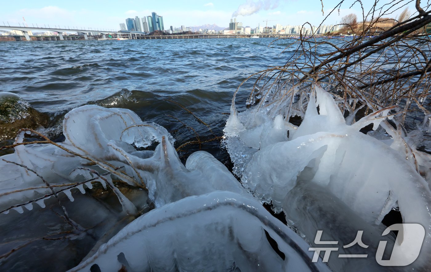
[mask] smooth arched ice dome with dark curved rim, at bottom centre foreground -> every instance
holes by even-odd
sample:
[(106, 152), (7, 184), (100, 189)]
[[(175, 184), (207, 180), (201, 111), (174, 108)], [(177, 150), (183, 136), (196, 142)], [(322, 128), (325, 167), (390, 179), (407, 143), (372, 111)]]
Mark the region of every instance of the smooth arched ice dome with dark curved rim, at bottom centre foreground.
[[(248, 195), (217, 191), (134, 220), (70, 271), (329, 271), (308, 245)], [(269, 244), (277, 241), (284, 260)]]

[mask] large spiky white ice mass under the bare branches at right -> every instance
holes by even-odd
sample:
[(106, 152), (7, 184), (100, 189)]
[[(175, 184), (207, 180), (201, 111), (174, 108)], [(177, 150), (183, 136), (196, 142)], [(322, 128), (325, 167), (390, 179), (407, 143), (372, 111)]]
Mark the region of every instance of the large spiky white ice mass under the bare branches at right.
[[(275, 212), (283, 210), (290, 226), (310, 243), (323, 229), (330, 232), (329, 241), (348, 244), (347, 230), (361, 230), (361, 226), (370, 230), (366, 239), (371, 241), (385, 228), (384, 216), (399, 208), (403, 223), (420, 223), (426, 230), (421, 255), (412, 268), (428, 267), (431, 160), (415, 149), (418, 137), (402, 135), (385, 121), (393, 108), (353, 123), (356, 112), (345, 119), (331, 94), (318, 86), (312, 89), (306, 111), (304, 93), (296, 103), (291, 96), (263, 97), (241, 113), (233, 99), (225, 145), (234, 173), (256, 198), (271, 203)], [(290, 111), (289, 103), (293, 104)], [(303, 117), (299, 127), (288, 122), (296, 114)], [(359, 132), (368, 124), (373, 124), (376, 137)], [(377, 132), (379, 125), (390, 136)], [(356, 231), (350, 233), (354, 238)], [(329, 265), (336, 271), (350, 270), (343, 262), (334, 258)]]

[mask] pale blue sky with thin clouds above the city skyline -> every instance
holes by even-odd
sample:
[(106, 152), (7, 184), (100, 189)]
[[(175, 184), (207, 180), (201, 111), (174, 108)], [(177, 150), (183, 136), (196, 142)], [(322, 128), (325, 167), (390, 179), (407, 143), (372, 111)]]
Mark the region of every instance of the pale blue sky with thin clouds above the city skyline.
[[(2, 1), (3, 2), (3, 1)], [(384, 3), (388, 3), (385, 1)], [(325, 16), (339, 1), (323, 0)], [(331, 15), (326, 24), (340, 22), (341, 17), (355, 13), (362, 18), (359, 3), (350, 8), (353, 1), (346, 1), (338, 12)], [(365, 7), (374, 1), (363, 0)], [(413, 11), (414, 5), (409, 5)], [(228, 27), (230, 19), (237, 13), (237, 21), (243, 25), (265, 26), (264, 20), (272, 20), (268, 25), (302, 25), (310, 22), (319, 25), (324, 19), (320, 0), (187, 0), (187, 1), (144, 1), (144, 0), (18, 0), (1, 4), (0, 23), (10, 25), (22, 23), (22, 17), (29, 26), (32, 24), (61, 25), (78, 28), (105, 28), (118, 30), (119, 23), (128, 17), (143, 17), (156, 12), (163, 16), (165, 28), (216, 24)], [(398, 14), (400, 12), (396, 12)]]

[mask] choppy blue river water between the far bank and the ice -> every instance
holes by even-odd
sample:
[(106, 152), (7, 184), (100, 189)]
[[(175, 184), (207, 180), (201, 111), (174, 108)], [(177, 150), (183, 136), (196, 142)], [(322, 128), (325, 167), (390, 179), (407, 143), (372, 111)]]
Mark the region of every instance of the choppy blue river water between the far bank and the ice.
[[(263, 38), (4, 42), (0, 91), (17, 93), (47, 113), (49, 126), (72, 108), (89, 103), (129, 108), (174, 135), (178, 130), (180, 144), (196, 139), (184, 124), (201, 138), (219, 136), (227, 118), (223, 113), (229, 111), (238, 85), (254, 72), (286, 62), (292, 51), (282, 51), (289, 42), (271, 42)], [(192, 111), (212, 133), (166, 99)]]

